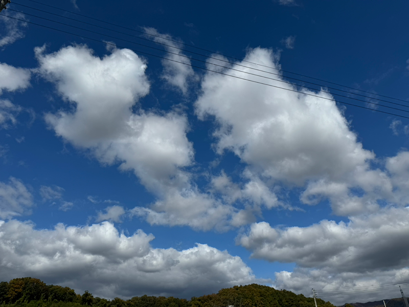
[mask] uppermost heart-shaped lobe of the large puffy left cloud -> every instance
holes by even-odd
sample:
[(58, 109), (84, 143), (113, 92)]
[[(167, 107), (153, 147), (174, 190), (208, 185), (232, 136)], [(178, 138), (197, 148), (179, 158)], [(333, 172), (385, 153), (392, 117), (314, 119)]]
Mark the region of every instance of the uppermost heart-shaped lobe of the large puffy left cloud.
[(130, 50), (103, 59), (86, 46), (66, 47), (44, 55), (36, 48), (39, 73), (57, 85), (75, 113), (48, 114), (56, 133), (78, 146), (92, 147), (129, 129), (130, 107), (149, 92), (146, 64)]

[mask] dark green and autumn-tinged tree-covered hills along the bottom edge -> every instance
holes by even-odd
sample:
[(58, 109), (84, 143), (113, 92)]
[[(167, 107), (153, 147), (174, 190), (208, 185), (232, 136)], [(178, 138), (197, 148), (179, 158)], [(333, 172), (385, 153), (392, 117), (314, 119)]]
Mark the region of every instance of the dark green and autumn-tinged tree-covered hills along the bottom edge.
[[(334, 307), (317, 299), (319, 307)], [(217, 294), (192, 297), (191, 300), (164, 296), (135, 296), (128, 300), (107, 300), (88, 291), (76, 294), (68, 287), (46, 284), (37, 278), (15, 278), (0, 282), (0, 305), (4, 307), (314, 307), (314, 300), (286, 290), (259, 284), (222, 289)]]

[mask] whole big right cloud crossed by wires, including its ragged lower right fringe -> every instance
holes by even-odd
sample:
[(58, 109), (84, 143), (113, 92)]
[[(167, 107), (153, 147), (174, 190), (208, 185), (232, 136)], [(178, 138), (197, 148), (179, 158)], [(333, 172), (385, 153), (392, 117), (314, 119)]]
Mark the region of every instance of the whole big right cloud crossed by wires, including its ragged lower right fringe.
[[(279, 82), (281, 77), (263, 78), (271, 77), (268, 72), (280, 73), (278, 56), (271, 50), (249, 50), (244, 60), (247, 67), (259, 69), (249, 63), (256, 62), (271, 69), (258, 72), (260, 77), (228, 67), (218, 70), (272, 86), (208, 72), (195, 109), (199, 119), (215, 119), (217, 153), (232, 151), (247, 164), (243, 177), (251, 180), (248, 188), (253, 188), (248, 197), (271, 208), (280, 203), (277, 188), (297, 186), (303, 189), (303, 203), (328, 199), (335, 214), (347, 216), (376, 211), (379, 200), (395, 201), (388, 172), (373, 169), (370, 162), (375, 162), (375, 154), (357, 141), (328, 92), (298, 89)], [(230, 67), (254, 72), (236, 64), (244, 63)], [(293, 92), (298, 90), (301, 93)]]

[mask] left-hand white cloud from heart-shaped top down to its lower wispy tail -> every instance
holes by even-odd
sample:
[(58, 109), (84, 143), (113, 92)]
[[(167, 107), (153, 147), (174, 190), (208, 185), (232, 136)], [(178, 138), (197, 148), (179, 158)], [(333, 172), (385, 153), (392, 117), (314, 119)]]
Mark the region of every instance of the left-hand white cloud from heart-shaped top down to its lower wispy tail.
[[(57, 86), (74, 108), (47, 114), (46, 121), (64, 140), (90, 150), (102, 163), (120, 164), (157, 196), (150, 208), (135, 208), (156, 225), (224, 227), (231, 206), (200, 192), (184, 168), (193, 164), (186, 116), (145, 113), (131, 107), (149, 92), (146, 63), (130, 50), (112, 50), (102, 59), (86, 46), (52, 54), (36, 49), (38, 72)], [(95, 199), (92, 198), (93, 201)]]

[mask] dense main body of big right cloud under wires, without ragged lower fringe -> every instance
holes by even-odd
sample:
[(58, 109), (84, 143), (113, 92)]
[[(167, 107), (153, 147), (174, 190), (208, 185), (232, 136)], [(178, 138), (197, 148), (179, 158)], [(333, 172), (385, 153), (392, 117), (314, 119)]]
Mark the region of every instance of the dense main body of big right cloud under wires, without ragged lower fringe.
[[(278, 73), (271, 50), (251, 50), (245, 60), (273, 67), (266, 70)], [(245, 65), (258, 68), (247, 62)], [(235, 65), (233, 68), (254, 72)], [(226, 73), (295, 89), (290, 84), (237, 71)], [(200, 119), (207, 115), (216, 117), (220, 125), (215, 132), (219, 153), (232, 150), (263, 176), (277, 180), (302, 184), (322, 176), (337, 179), (374, 158), (356, 141), (331, 95), (324, 91), (305, 93), (330, 100), (208, 73), (195, 104), (196, 113)]]

